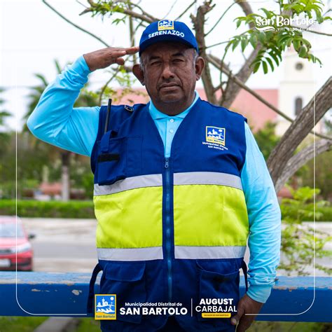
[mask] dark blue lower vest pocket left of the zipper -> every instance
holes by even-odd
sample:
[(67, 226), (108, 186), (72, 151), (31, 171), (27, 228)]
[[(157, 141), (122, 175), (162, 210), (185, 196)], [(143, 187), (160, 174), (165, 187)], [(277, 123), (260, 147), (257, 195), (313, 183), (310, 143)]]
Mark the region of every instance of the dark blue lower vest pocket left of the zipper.
[[(141, 314), (120, 314), (125, 303), (146, 302), (145, 262), (109, 262), (100, 281), (101, 294), (116, 294), (116, 320), (141, 322)], [(132, 307), (131, 307), (132, 308)]]

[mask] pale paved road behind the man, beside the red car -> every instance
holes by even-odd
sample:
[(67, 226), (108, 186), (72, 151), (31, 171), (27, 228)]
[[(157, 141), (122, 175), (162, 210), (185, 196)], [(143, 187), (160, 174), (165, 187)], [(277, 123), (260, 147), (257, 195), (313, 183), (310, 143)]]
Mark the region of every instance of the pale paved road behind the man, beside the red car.
[[(22, 218), (28, 233), (36, 234), (34, 270), (45, 272), (91, 272), (97, 263), (95, 219)], [(310, 225), (312, 226), (312, 225)], [(332, 223), (317, 223), (316, 228), (331, 234)], [(325, 249), (332, 249), (331, 242)], [(249, 261), (247, 250), (245, 261)], [(317, 260), (331, 267), (331, 259)], [(308, 270), (313, 275), (313, 270)], [(316, 275), (325, 275), (316, 270)]]

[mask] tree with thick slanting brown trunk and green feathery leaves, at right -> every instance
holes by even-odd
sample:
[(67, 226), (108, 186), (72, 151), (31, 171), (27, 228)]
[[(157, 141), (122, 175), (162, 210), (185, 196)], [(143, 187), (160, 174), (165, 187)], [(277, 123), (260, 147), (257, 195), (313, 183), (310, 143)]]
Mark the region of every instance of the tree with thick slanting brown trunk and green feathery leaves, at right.
[[(145, 27), (147, 24), (160, 20), (161, 18), (156, 18), (145, 8), (142, 8), (139, 1), (125, 0), (125, 1), (104, 1), (104, 0), (87, 0), (88, 7), (81, 13), (81, 15), (89, 13), (92, 17), (96, 15), (102, 16), (102, 18), (111, 18), (112, 22), (115, 24), (120, 24), (129, 20), (130, 29), (130, 44), (133, 45), (135, 41), (135, 34), (139, 29)], [(282, 111), (272, 106), (263, 97), (258, 95), (256, 92), (251, 90), (246, 82), (248, 81), (251, 74), (254, 74), (258, 69), (263, 69), (264, 74), (268, 71), (273, 71), (275, 67), (279, 66), (282, 62), (282, 57), (284, 51), (293, 47), (299, 57), (303, 57), (308, 61), (312, 61), (321, 64), (320, 60), (312, 54), (310, 41), (303, 37), (303, 32), (301, 29), (296, 29), (294, 27), (294, 21), (301, 15), (301, 18), (310, 20), (310, 22), (315, 22), (317, 24), (323, 23), (325, 20), (331, 20), (330, 17), (323, 13), (324, 4), (319, 0), (291, 0), (287, 3), (282, 0), (276, 1), (279, 6), (279, 13), (275, 10), (269, 8), (261, 8), (258, 13), (254, 13), (249, 2), (242, 0), (234, 0), (233, 4), (228, 6), (226, 10), (221, 11), (221, 1), (217, 2), (212, 0), (205, 0), (200, 6), (194, 6), (197, 1), (192, 1), (188, 3), (186, 10), (180, 15), (172, 14), (172, 9), (170, 13), (167, 14), (168, 18), (173, 18), (174, 20), (179, 20), (184, 15), (190, 13), (191, 22), (193, 23), (193, 29), (195, 30), (195, 37), (198, 40), (198, 46), (200, 49), (200, 56), (205, 58), (207, 66), (205, 68), (204, 74), (202, 75), (202, 83), (205, 88), (207, 99), (209, 102), (214, 104), (219, 104), (221, 106), (229, 107), (235, 97), (240, 92), (241, 89), (247, 90), (249, 93), (254, 95), (257, 99), (263, 102), (265, 105), (270, 107), (273, 111), (277, 112), (279, 115), (283, 116), (291, 122), (291, 127), (287, 130), (279, 141), (279, 144), (270, 154), (268, 158), (268, 167), (273, 182), (275, 183), (276, 191), (279, 191), (286, 181), (291, 177), (291, 175), (302, 167), (303, 153), (305, 153), (305, 158), (309, 158), (310, 153), (307, 151), (299, 151), (296, 155), (293, 153), (300, 143), (307, 137), (313, 128), (313, 108), (314, 101), (316, 108), (316, 121), (318, 122), (322, 116), (331, 108), (332, 105), (332, 79), (330, 78), (321, 87), (319, 92), (313, 96), (307, 106), (299, 112), (296, 120), (292, 120), (286, 116)], [(104, 46), (109, 46), (105, 41), (100, 39), (95, 34), (88, 32), (88, 30), (78, 27), (73, 22), (64, 18), (64, 16), (59, 13), (55, 8), (50, 6), (46, 0), (43, 0), (50, 9), (55, 11), (57, 15), (60, 15), (64, 20), (74, 25), (81, 31), (90, 34), (90, 36), (99, 40)], [(233, 36), (229, 41), (220, 41), (214, 45), (207, 44), (207, 36), (216, 32), (216, 27), (219, 27), (224, 15), (234, 6), (240, 6), (244, 12), (244, 16), (235, 19), (236, 28), (243, 27), (245, 25), (246, 29), (241, 34)], [(197, 9), (193, 9), (193, 8)], [(218, 8), (218, 9), (216, 9)], [(224, 8), (223, 8), (224, 9)], [(212, 29), (206, 31), (206, 22), (209, 18), (209, 13), (211, 11), (220, 10), (222, 13), (219, 19), (215, 22)], [(175, 17), (177, 16), (177, 17)], [(278, 22), (282, 20), (283, 29), (279, 29)], [(262, 27), (262, 24), (264, 27)], [(229, 27), (227, 27), (229, 29)], [(295, 28), (295, 29), (294, 29)], [(308, 32), (312, 34), (323, 34), (331, 36), (331, 34), (326, 34), (323, 32), (317, 32), (313, 29), (307, 29)], [(219, 44), (226, 44), (225, 52), (223, 57), (220, 55), (215, 55), (211, 52), (211, 49)], [(230, 53), (236, 50), (240, 53), (244, 53), (246, 50), (251, 48), (248, 57), (242, 64), (242, 67), (236, 74), (233, 74), (232, 66), (226, 63), (228, 57), (232, 57)], [(133, 58), (133, 62), (136, 62), (136, 57)], [(212, 79), (212, 67), (219, 71), (219, 82), (214, 84)], [(124, 67), (128, 72), (130, 67)], [(224, 77), (227, 76), (225, 79)], [(106, 83), (108, 85), (112, 78), (116, 75), (113, 74), (110, 80)], [(221, 92), (221, 94), (220, 94)], [(218, 97), (220, 95), (220, 97)], [(328, 151), (331, 148), (331, 137), (326, 137), (321, 134), (316, 134), (317, 137), (321, 139), (317, 144), (321, 146), (319, 149), (315, 149), (316, 155), (324, 151)], [(311, 148), (310, 151), (313, 151)], [(308, 159), (307, 159), (308, 160)], [(290, 167), (289, 162), (296, 167)], [(291, 172), (290, 172), (291, 170)]]

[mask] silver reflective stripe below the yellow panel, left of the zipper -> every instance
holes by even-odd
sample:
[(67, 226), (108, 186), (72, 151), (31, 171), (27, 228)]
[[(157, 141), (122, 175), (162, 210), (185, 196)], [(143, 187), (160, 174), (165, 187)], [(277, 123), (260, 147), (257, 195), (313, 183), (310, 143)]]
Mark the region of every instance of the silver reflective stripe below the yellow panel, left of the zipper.
[(103, 261), (153, 261), (162, 259), (162, 247), (97, 248), (97, 254)]

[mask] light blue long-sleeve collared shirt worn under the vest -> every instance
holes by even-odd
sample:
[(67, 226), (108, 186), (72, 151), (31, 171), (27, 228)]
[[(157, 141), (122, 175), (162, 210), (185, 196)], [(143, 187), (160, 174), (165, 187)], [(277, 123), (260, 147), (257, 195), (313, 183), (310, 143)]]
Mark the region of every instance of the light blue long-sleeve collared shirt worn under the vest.
[[(91, 155), (99, 123), (99, 106), (74, 108), (81, 88), (88, 82), (90, 69), (81, 56), (58, 75), (43, 92), (27, 126), (39, 139), (82, 155)], [(170, 156), (172, 139), (188, 109), (177, 116), (158, 111), (152, 102), (149, 111)], [(247, 153), (241, 180), (249, 217), (249, 290), (247, 295), (265, 303), (270, 296), (279, 264), (280, 209), (268, 168), (247, 123)]]

